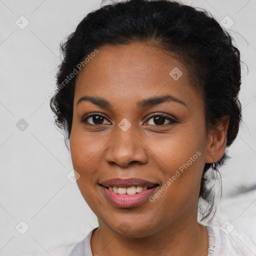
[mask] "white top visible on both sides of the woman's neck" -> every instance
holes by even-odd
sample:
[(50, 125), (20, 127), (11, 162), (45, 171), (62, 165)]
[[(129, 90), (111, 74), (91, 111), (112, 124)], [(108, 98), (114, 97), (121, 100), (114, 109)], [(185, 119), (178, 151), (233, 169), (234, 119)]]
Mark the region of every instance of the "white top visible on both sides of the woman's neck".
[[(74, 245), (68, 256), (92, 256), (89, 234)], [(256, 245), (226, 221), (221, 226), (206, 225), (209, 237), (208, 256), (255, 256)]]

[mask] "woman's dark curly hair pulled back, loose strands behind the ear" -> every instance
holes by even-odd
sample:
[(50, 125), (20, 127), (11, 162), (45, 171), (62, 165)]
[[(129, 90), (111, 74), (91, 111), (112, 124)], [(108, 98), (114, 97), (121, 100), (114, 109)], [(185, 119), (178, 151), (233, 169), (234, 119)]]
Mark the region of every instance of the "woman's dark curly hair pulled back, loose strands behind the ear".
[[(77, 64), (95, 48), (132, 42), (153, 42), (186, 63), (192, 86), (204, 100), (206, 132), (216, 128), (222, 116), (229, 116), (226, 148), (229, 147), (241, 121), (239, 50), (232, 44), (232, 37), (206, 10), (168, 0), (128, 0), (104, 5), (88, 13), (60, 43), (62, 62), (58, 66), (57, 88), (50, 99), (50, 108), (55, 114), (55, 124), (64, 131), (66, 145), (72, 126), (76, 74), (68, 80), (67, 76), (74, 73)], [(225, 150), (215, 162), (217, 172), (227, 158)], [(212, 186), (208, 186), (212, 179), (207, 171), (210, 166), (211, 163), (205, 163), (201, 178), (198, 200), (201, 220), (216, 210), (214, 192)], [(202, 210), (203, 205), (207, 206)]]

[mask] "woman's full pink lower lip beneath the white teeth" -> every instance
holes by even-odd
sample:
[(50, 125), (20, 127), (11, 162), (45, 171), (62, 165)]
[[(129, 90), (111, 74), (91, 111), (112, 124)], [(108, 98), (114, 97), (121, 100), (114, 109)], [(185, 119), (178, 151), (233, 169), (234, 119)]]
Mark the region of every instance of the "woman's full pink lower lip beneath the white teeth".
[(142, 204), (153, 193), (157, 186), (142, 190), (135, 194), (117, 194), (108, 188), (101, 186), (106, 198), (116, 207), (129, 208)]

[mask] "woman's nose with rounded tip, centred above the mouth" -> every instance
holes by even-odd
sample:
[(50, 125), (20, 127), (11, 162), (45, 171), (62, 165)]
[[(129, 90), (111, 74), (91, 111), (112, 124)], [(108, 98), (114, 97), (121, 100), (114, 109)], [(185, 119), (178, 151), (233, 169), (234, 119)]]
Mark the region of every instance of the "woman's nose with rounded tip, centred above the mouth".
[(147, 162), (147, 146), (142, 140), (142, 131), (136, 131), (133, 124), (126, 131), (117, 126), (114, 132), (106, 145), (104, 155), (106, 162), (122, 167), (128, 167), (135, 162), (139, 164)]

